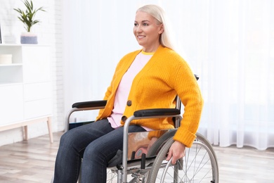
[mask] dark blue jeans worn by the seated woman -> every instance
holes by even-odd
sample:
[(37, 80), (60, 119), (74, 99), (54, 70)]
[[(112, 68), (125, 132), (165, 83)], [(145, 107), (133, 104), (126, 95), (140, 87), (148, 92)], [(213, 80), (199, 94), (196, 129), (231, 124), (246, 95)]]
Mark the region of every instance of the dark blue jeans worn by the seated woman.
[[(144, 132), (130, 125), (129, 132)], [(106, 182), (107, 163), (123, 149), (124, 127), (114, 129), (107, 119), (69, 130), (60, 139), (54, 172), (55, 183)], [(83, 162), (81, 163), (81, 158)]]

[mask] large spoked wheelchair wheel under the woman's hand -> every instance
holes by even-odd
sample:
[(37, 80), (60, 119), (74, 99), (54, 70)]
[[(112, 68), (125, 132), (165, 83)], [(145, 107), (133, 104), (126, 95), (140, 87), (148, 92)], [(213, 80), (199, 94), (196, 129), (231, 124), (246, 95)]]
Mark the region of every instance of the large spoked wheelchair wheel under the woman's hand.
[(170, 138), (159, 151), (147, 182), (214, 182), (218, 183), (218, 163), (214, 149), (205, 137), (197, 134), (191, 148), (185, 149), (183, 160), (176, 165), (167, 162), (167, 153), (174, 140)]

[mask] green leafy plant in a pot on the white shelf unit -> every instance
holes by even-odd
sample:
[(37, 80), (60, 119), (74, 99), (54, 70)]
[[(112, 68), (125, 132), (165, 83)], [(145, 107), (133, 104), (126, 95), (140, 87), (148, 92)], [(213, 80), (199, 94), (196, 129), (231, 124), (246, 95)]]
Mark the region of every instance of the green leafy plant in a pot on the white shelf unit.
[(25, 25), (25, 30), (27, 30), (27, 32), (21, 34), (21, 44), (37, 44), (37, 34), (32, 33), (31, 30), (33, 25), (40, 22), (39, 20), (34, 20), (36, 13), (38, 11), (45, 11), (44, 7), (35, 9), (32, 0), (25, 0), (23, 3), (27, 8), (25, 11), (22, 11), (20, 8), (13, 8), (19, 13), (18, 18)]

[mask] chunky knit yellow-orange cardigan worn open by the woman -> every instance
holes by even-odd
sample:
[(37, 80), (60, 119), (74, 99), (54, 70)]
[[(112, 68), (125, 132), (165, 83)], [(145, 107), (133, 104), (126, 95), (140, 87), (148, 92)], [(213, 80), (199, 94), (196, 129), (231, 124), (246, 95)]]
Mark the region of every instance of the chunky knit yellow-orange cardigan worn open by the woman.
[[(128, 53), (119, 61), (110, 87), (104, 99), (107, 104), (99, 111), (96, 120), (107, 118), (112, 113), (115, 93), (126, 70), (141, 50)], [(178, 128), (174, 140), (190, 147), (195, 140), (202, 113), (203, 99), (197, 81), (181, 56), (175, 51), (159, 46), (150, 61), (134, 78), (129, 92), (128, 102), (121, 124), (134, 111), (148, 108), (175, 108), (176, 94), (181, 98), (184, 113), (181, 127)], [(171, 118), (133, 120), (131, 124), (149, 127), (154, 130), (174, 128)]]

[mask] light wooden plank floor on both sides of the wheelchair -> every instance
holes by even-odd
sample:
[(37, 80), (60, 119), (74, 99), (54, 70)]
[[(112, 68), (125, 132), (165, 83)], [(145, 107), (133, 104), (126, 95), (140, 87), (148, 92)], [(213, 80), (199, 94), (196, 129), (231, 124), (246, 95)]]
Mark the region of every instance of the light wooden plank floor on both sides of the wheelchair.
[[(0, 146), (0, 182), (50, 182), (62, 132)], [(214, 147), (220, 182), (274, 182), (274, 149)]]

